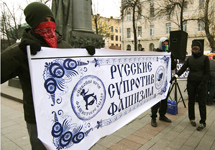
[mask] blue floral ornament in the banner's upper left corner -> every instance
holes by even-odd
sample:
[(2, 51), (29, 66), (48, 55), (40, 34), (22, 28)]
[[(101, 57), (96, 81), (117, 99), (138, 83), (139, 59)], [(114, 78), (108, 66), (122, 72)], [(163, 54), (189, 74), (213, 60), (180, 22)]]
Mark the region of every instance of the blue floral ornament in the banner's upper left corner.
[(60, 92), (59, 95), (64, 94), (67, 92), (68, 87), (66, 83), (72, 81), (73, 76), (81, 76), (82, 72), (86, 72), (87, 68), (84, 69), (77, 69), (78, 66), (88, 65), (89, 62), (81, 62), (75, 61), (73, 59), (56, 59), (53, 62), (46, 62), (45, 63), (45, 70), (43, 73), (43, 78), (45, 80), (44, 87), (47, 93), (50, 94), (53, 104), (55, 102), (61, 103), (61, 98), (55, 97), (55, 93), (57, 91)]

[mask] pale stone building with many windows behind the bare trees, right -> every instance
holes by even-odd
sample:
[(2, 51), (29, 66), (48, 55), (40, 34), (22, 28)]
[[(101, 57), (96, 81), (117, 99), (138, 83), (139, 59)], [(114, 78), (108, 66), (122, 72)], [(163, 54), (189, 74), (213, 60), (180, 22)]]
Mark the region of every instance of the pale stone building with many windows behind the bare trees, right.
[[(122, 0), (125, 3), (128, 0)], [(191, 18), (198, 18), (198, 15), (204, 8), (205, 0), (185, 0), (183, 18), (187, 21), (183, 22), (183, 31), (188, 33), (187, 40), (187, 53), (191, 54), (191, 44), (193, 40), (201, 39), (204, 40), (204, 51), (210, 51), (210, 45), (206, 38), (204, 23), (198, 20), (192, 20)], [(163, 3), (162, 3), (163, 2)], [(177, 24), (178, 16), (180, 12), (175, 13), (171, 20), (168, 19), (168, 15), (164, 14), (157, 17), (159, 9), (164, 4), (164, 0), (140, 0), (141, 4), (141, 15), (136, 14), (135, 27), (137, 33), (137, 50), (144, 48), (145, 51), (153, 51), (154, 48), (158, 47), (158, 41), (161, 37), (170, 37), (171, 31), (180, 30)], [(212, 0), (209, 4), (210, 8), (214, 10), (214, 1)], [(168, 7), (166, 11), (168, 12)], [(214, 12), (214, 11), (213, 11)], [(212, 14), (212, 19), (215, 19)], [(145, 16), (145, 17), (144, 17)], [(146, 19), (146, 16), (148, 18)], [(214, 23), (214, 20), (212, 20)], [(126, 9), (124, 11), (124, 17), (121, 22), (122, 26), (122, 50), (134, 51), (134, 38), (133, 38), (133, 22), (132, 22), (132, 9)], [(213, 25), (214, 27), (214, 25)], [(214, 31), (214, 28), (210, 30)]]

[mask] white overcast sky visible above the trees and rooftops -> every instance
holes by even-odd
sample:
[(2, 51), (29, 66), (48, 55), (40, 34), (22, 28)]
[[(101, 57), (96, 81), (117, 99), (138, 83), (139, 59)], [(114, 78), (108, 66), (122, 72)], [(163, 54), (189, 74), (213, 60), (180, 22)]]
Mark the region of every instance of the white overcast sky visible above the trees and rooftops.
[[(21, 6), (22, 9), (25, 8), (27, 3), (33, 2), (35, 0), (0, 0), (5, 2), (8, 7), (11, 9), (12, 7)], [(92, 0), (92, 9), (94, 14), (100, 14), (103, 17), (113, 16), (114, 18), (120, 17), (120, 3), (121, 0)], [(51, 3), (48, 4), (51, 7)], [(18, 8), (16, 8), (18, 10)], [(17, 12), (17, 15), (23, 14), (23, 12)]]

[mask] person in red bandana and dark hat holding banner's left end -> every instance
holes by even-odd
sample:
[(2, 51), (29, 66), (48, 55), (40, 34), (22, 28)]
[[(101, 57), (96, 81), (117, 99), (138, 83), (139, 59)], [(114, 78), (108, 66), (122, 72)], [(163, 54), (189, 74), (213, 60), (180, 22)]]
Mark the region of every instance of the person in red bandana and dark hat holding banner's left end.
[[(23, 91), (24, 118), (32, 149), (45, 150), (46, 148), (37, 138), (26, 46), (30, 45), (31, 54), (35, 55), (40, 51), (41, 46), (71, 48), (71, 45), (63, 41), (61, 35), (55, 31), (54, 15), (45, 4), (41, 2), (30, 3), (24, 9), (24, 15), (30, 28), (24, 31), (20, 43), (15, 43), (1, 53), (1, 83), (16, 76), (19, 77)], [(87, 48), (88, 53), (94, 54), (95, 49), (90, 48), (90, 50)]]

